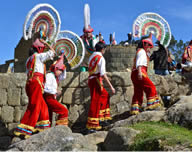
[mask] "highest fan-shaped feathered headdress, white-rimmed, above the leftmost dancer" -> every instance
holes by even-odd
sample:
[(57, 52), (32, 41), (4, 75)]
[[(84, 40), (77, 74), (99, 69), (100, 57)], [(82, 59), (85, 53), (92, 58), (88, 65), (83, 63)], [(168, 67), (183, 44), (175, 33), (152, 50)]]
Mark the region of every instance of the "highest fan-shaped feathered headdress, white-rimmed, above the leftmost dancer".
[(49, 4), (38, 4), (29, 11), (23, 26), (23, 37), (31, 39), (39, 33), (50, 42), (54, 41), (60, 31), (60, 16)]

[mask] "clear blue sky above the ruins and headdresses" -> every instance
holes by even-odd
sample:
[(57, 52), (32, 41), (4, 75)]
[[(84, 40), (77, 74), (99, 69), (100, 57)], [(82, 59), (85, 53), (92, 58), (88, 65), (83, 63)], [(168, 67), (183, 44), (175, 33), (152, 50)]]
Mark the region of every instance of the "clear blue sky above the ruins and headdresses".
[(0, 64), (14, 58), (14, 49), (23, 35), (25, 17), (38, 3), (51, 4), (60, 14), (61, 30), (71, 30), (78, 35), (82, 35), (83, 9), (88, 3), (93, 33), (101, 32), (107, 43), (113, 32), (118, 43), (127, 40), (134, 20), (144, 12), (155, 12), (164, 17), (177, 40), (192, 39), (191, 0), (3, 0), (0, 5)]

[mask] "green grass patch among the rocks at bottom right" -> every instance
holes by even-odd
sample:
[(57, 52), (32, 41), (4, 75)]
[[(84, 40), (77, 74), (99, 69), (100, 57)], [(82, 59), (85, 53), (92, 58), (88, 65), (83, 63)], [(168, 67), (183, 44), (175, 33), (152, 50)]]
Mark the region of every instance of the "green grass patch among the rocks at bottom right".
[[(141, 122), (129, 126), (141, 131), (135, 137), (130, 150), (163, 150), (163, 146), (176, 144), (192, 144), (192, 131), (178, 125), (165, 122)], [(159, 145), (159, 142), (161, 144)]]

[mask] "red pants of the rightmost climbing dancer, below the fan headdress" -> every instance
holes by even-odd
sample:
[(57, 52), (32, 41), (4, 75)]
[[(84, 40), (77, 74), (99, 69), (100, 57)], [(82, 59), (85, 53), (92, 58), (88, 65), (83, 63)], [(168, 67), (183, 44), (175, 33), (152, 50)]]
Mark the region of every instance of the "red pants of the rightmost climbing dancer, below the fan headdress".
[(147, 75), (147, 68), (142, 67), (142, 80), (138, 79), (138, 70), (134, 70), (131, 73), (131, 80), (134, 86), (134, 95), (132, 98), (131, 113), (138, 114), (141, 111), (143, 103), (143, 92), (147, 97), (147, 108), (154, 109), (158, 107), (159, 98), (157, 96), (156, 87)]

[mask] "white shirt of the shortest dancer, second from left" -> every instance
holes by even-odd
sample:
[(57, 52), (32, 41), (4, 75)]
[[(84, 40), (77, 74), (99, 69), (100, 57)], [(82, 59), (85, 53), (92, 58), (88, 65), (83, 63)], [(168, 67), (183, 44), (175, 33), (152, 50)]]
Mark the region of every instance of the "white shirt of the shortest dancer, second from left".
[[(66, 70), (59, 76), (59, 81), (62, 81), (66, 78)], [(56, 94), (57, 93), (57, 80), (55, 78), (54, 73), (46, 74), (46, 82), (44, 87), (44, 92), (49, 94)]]

